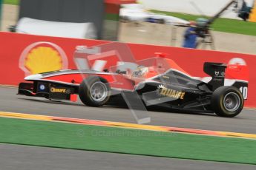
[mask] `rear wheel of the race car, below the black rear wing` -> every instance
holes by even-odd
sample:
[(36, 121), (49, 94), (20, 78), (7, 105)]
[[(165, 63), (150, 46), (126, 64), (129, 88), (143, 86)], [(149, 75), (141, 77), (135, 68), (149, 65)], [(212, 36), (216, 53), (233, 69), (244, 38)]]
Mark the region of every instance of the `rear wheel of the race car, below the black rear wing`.
[(232, 118), (243, 109), (243, 95), (234, 86), (220, 86), (215, 89), (211, 98), (211, 107), (215, 114), (221, 117)]

